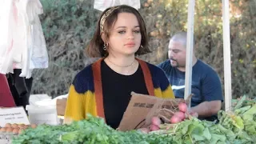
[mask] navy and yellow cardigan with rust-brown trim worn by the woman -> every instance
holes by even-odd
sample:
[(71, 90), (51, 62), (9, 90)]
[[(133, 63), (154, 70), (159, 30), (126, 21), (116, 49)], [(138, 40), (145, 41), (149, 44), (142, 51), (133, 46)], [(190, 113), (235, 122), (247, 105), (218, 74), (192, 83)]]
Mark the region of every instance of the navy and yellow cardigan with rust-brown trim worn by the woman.
[[(170, 83), (164, 72), (148, 62), (136, 58), (142, 67), (146, 89), (158, 98), (174, 98)], [(86, 118), (86, 114), (105, 118), (102, 95), (101, 62), (86, 66), (74, 78), (66, 102), (65, 122)]]

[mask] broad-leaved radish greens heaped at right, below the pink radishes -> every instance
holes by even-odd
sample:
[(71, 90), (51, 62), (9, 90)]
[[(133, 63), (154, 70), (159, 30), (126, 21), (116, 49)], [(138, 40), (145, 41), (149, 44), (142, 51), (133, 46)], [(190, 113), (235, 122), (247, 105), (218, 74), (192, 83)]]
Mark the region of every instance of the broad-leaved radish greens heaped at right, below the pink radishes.
[[(162, 129), (168, 125), (162, 125)], [(218, 112), (218, 123), (190, 118), (169, 126), (158, 134), (169, 134), (177, 143), (234, 143), (256, 142), (256, 102), (242, 97), (233, 110)]]

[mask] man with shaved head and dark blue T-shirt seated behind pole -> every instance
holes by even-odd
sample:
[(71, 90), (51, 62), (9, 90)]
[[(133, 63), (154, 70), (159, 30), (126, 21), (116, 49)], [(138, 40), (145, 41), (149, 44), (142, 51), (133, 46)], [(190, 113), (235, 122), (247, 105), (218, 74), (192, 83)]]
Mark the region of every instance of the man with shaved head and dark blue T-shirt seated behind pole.
[[(184, 98), (186, 72), (186, 32), (170, 38), (169, 59), (158, 66), (165, 71), (176, 98)], [(198, 118), (214, 121), (221, 109), (223, 96), (220, 78), (215, 70), (195, 57), (193, 52), (191, 111)]]

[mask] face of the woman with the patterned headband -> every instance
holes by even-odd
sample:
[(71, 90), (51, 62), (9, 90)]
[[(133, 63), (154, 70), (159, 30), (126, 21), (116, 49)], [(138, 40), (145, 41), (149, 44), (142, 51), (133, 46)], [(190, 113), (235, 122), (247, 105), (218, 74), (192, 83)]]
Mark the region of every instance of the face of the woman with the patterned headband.
[(142, 34), (134, 14), (120, 13), (110, 30), (109, 54), (114, 56), (134, 55), (141, 46)]

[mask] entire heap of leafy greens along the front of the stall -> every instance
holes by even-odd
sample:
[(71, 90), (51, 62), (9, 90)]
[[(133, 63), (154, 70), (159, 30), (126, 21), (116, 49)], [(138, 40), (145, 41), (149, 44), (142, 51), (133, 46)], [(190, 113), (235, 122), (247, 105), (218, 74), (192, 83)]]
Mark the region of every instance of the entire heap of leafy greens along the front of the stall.
[(41, 125), (27, 129), (12, 141), (14, 144), (101, 143), (101, 144), (251, 144), (256, 142), (256, 102), (246, 97), (230, 111), (220, 110), (218, 122), (186, 119), (177, 124), (162, 124), (161, 130), (143, 134), (138, 130), (122, 132), (107, 126), (102, 118), (88, 115), (70, 125)]

